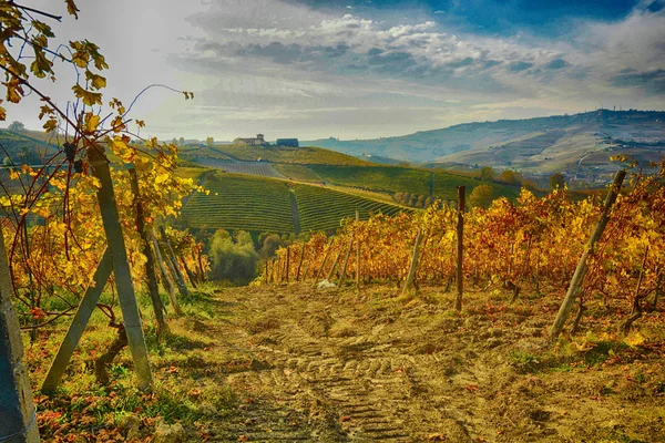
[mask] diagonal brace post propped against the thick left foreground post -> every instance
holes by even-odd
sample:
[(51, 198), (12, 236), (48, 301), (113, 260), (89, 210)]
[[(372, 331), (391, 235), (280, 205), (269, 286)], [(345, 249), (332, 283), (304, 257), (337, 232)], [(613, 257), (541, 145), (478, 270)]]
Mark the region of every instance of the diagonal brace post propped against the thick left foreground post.
[(85, 295), (79, 303), (76, 315), (74, 316), (74, 319), (66, 331), (66, 336), (62, 340), (60, 349), (58, 350), (58, 353), (51, 363), (49, 373), (42, 383), (43, 392), (53, 392), (58, 388), (58, 384), (60, 384), (62, 374), (64, 374), (64, 370), (66, 369), (74, 350), (79, 346), (79, 341), (81, 340), (81, 336), (83, 336), (85, 326), (90, 321), (90, 317), (92, 316), (94, 308), (96, 308), (100, 296), (102, 295), (102, 291), (104, 290), (112, 271), (113, 257), (111, 256), (111, 250), (106, 248), (104, 255), (102, 256), (102, 260), (98, 265), (98, 268), (94, 272), (94, 282), (85, 290)]

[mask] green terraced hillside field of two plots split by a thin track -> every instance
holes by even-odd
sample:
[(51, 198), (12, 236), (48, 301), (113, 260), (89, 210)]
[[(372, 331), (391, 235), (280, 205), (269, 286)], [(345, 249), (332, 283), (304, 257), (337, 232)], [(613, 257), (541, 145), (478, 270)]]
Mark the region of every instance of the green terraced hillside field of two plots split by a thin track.
[(183, 208), (192, 228), (243, 229), (293, 233), (290, 192), (295, 193), (300, 228), (334, 230), (356, 210), (366, 219), (370, 213), (397, 214), (405, 208), (321, 186), (241, 174), (208, 173), (203, 186), (209, 195), (195, 194)]

